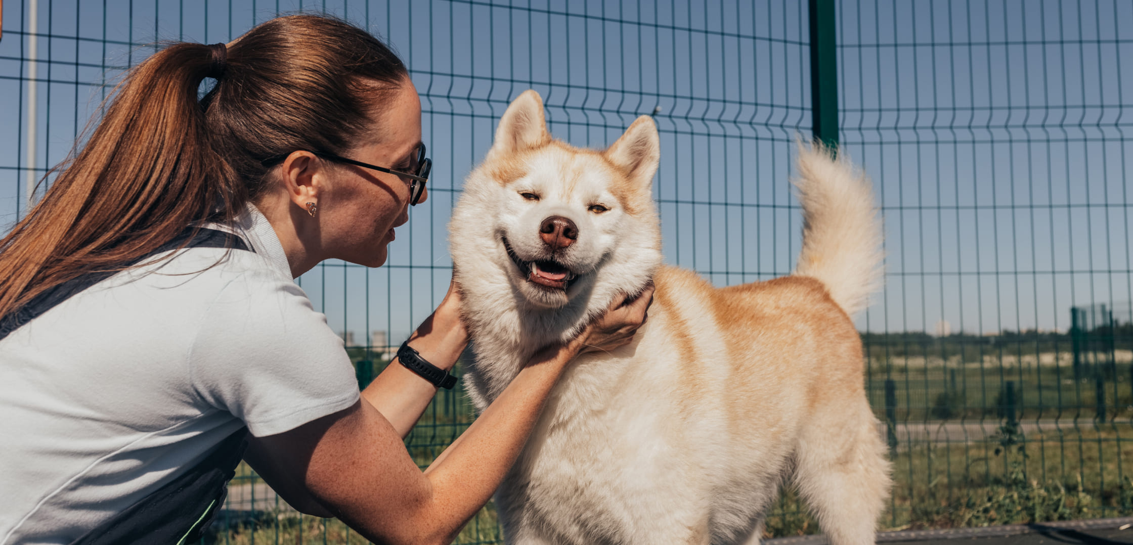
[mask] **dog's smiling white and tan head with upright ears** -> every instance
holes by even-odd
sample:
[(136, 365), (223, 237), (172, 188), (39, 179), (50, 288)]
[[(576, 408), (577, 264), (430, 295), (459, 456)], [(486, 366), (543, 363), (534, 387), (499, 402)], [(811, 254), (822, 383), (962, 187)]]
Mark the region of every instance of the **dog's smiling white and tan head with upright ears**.
[(542, 308), (640, 290), (661, 263), (650, 198), (659, 156), (647, 116), (605, 151), (577, 148), (552, 139), (538, 93), (525, 92), (501, 118), (453, 213), (459, 280), (505, 278)]

